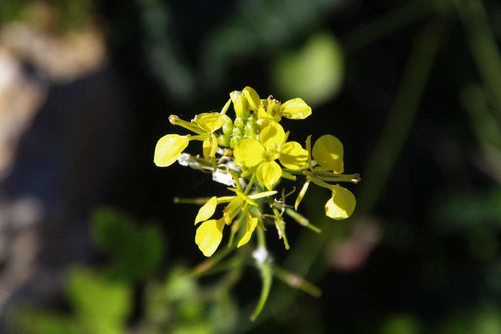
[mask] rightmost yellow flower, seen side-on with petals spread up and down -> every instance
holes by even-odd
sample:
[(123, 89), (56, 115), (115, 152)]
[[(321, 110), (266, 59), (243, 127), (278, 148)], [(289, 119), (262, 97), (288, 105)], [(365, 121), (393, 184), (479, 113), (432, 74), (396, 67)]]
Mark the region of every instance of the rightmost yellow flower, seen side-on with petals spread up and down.
[(343, 144), (341, 144), (339, 139), (331, 135), (320, 137), (313, 146), (313, 158), (319, 164), (315, 168), (313, 168), (312, 164), (311, 136), (308, 136), (306, 140), (306, 149), (308, 151), (308, 167), (310, 170), (303, 171), (306, 175), (306, 182), (296, 199), (296, 210), (308, 190), (310, 182), (313, 182), (332, 191), (332, 197), (325, 205), (326, 215), (336, 220), (348, 218), (355, 210), (355, 196), (351, 191), (341, 187), (339, 184), (332, 185), (327, 183), (329, 181), (354, 183), (360, 181), (358, 174), (341, 174), (344, 170)]

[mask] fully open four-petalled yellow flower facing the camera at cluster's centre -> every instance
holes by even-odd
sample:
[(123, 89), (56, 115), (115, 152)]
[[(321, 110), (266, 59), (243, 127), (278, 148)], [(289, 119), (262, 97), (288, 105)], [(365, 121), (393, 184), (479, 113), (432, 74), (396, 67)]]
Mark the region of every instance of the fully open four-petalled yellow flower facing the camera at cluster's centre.
[(240, 141), (233, 151), (235, 162), (249, 168), (241, 174), (245, 177), (256, 173), (260, 183), (272, 190), (273, 185), (282, 177), (282, 168), (275, 162), (290, 169), (303, 167), (308, 159), (308, 152), (297, 142), (287, 142), (284, 128), (275, 122), (264, 128), (259, 137), (260, 141), (247, 138)]

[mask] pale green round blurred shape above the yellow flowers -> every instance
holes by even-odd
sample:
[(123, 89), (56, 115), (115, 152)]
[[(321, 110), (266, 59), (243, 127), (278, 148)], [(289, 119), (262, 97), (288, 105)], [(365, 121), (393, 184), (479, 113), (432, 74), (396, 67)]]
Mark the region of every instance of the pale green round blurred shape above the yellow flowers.
[(343, 50), (332, 34), (314, 34), (301, 49), (279, 56), (272, 75), (272, 82), (283, 101), (301, 97), (310, 106), (320, 105), (333, 98), (341, 88)]

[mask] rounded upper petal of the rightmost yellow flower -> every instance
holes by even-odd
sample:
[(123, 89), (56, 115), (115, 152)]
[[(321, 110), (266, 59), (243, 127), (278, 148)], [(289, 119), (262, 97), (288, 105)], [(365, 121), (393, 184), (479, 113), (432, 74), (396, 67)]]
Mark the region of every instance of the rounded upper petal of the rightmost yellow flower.
[(320, 166), (336, 173), (343, 172), (343, 144), (336, 137), (320, 137), (313, 145), (312, 155)]

